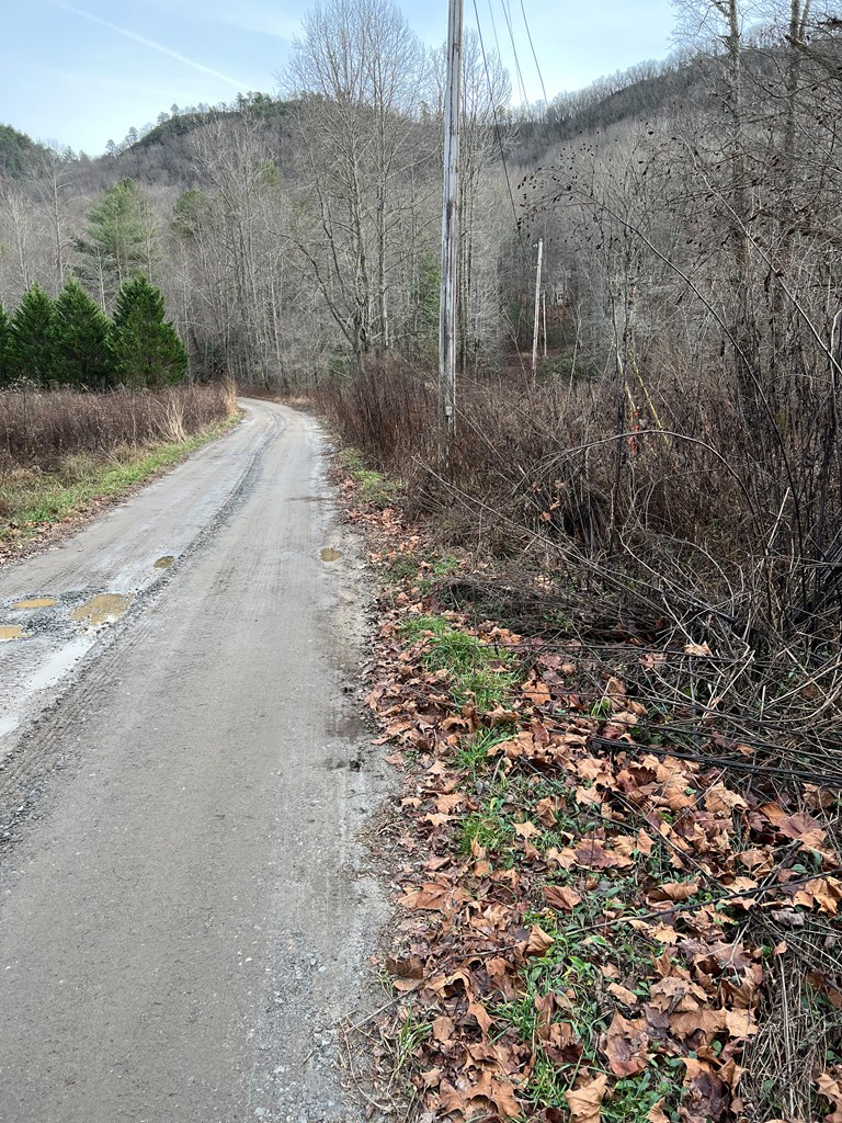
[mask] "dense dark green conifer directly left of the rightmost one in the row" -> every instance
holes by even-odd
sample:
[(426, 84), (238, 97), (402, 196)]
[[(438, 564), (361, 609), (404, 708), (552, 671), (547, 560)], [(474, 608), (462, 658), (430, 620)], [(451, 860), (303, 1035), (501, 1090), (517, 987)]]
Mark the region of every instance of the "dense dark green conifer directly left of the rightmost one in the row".
[(66, 385), (104, 390), (113, 378), (108, 350), (109, 321), (72, 277), (53, 305), (49, 341), (53, 377)]

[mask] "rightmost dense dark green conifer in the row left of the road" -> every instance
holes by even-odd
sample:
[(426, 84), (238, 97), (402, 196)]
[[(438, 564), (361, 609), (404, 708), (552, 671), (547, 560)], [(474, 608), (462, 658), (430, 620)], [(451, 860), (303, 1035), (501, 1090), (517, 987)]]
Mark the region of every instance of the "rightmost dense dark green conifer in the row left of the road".
[(117, 294), (108, 349), (117, 380), (127, 386), (165, 386), (187, 373), (187, 353), (164, 319), (164, 298), (145, 276), (127, 281)]

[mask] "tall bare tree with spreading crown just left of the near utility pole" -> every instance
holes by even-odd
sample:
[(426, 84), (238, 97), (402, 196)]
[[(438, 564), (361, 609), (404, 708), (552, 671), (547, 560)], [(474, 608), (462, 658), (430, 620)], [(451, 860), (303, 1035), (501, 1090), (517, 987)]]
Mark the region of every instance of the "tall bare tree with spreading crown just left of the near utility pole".
[(391, 0), (327, 0), (304, 19), (283, 75), (296, 95), (295, 241), (355, 360), (395, 338), (424, 54)]

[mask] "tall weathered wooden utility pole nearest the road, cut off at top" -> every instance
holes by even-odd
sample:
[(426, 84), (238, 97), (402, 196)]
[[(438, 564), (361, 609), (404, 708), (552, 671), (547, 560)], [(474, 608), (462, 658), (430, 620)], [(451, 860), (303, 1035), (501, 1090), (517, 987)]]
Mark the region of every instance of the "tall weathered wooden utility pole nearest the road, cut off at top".
[(459, 264), (459, 116), (461, 109), (463, 0), (448, 0), (445, 86), (445, 190), (441, 213), (441, 300), (439, 304), (439, 450), (449, 466), (456, 431), (456, 294)]

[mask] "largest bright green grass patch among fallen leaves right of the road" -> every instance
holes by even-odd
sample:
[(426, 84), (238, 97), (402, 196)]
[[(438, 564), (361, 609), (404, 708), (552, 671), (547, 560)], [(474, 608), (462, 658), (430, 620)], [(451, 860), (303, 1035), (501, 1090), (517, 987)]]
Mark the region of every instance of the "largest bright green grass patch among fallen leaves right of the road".
[(473, 702), (477, 710), (487, 711), (507, 701), (516, 679), (509, 651), (489, 647), (441, 617), (412, 617), (402, 634), (411, 643), (425, 641), (424, 666), (447, 674), (457, 705)]

